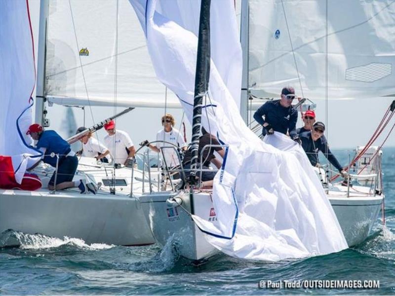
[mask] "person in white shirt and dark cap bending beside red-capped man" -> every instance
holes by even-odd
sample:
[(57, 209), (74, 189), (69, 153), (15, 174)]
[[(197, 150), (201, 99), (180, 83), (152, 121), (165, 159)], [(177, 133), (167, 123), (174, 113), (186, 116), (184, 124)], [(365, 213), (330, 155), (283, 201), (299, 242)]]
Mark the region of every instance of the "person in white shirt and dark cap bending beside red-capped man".
[[(76, 134), (79, 134), (86, 130), (86, 127), (81, 126), (77, 129)], [(82, 142), (82, 149), (77, 154), (85, 157), (94, 157), (96, 160), (102, 162), (109, 162), (110, 150), (100, 143), (97, 139), (92, 137), (92, 133), (88, 133), (79, 139)]]

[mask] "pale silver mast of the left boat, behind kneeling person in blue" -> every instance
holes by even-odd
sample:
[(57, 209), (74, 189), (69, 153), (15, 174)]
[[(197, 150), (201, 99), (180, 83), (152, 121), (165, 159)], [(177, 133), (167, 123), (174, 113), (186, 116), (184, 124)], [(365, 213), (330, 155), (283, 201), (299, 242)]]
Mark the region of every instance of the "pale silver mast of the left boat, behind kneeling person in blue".
[(39, 25), (39, 47), (37, 54), (37, 88), (36, 88), (36, 111), (35, 122), (42, 126), (49, 126), (44, 114), (44, 89), (45, 89), (45, 53), (46, 32), (48, 20), (48, 0), (40, 1), (40, 25)]

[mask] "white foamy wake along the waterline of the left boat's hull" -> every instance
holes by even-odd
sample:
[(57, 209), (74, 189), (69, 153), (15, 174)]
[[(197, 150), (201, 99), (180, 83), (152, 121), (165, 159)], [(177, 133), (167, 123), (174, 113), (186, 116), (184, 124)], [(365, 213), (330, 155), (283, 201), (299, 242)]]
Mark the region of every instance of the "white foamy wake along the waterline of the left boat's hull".
[(45, 236), (42, 234), (27, 234), (12, 229), (0, 234), (0, 248), (19, 247), (21, 249), (39, 250), (58, 248), (61, 246), (74, 246), (84, 250), (106, 250), (115, 247), (107, 244), (86, 244), (82, 239), (63, 237), (63, 239)]

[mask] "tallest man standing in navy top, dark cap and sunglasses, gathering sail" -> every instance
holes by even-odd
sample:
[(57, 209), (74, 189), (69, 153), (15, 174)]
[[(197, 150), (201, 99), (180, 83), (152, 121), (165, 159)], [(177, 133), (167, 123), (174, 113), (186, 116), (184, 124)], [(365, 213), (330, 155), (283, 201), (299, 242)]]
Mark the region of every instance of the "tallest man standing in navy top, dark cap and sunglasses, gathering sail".
[[(298, 112), (291, 106), (293, 99), (295, 90), (287, 86), (281, 90), (279, 100), (268, 101), (255, 111), (254, 119), (263, 126), (263, 136), (273, 135), (275, 131), (284, 135), (288, 132), (292, 140), (300, 143), (296, 132)], [(265, 119), (262, 116), (265, 116)]]

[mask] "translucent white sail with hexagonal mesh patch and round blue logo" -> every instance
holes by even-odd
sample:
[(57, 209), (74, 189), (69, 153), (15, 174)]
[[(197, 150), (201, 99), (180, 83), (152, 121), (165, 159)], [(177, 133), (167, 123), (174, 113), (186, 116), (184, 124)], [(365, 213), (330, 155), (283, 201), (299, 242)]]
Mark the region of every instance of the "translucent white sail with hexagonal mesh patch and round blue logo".
[(395, 96), (394, 0), (250, 0), (249, 85), (259, 96), (287, 84), (302, 95), (290, 39), (305, 97), (325, 99), (326, 60), (328, 99)]

